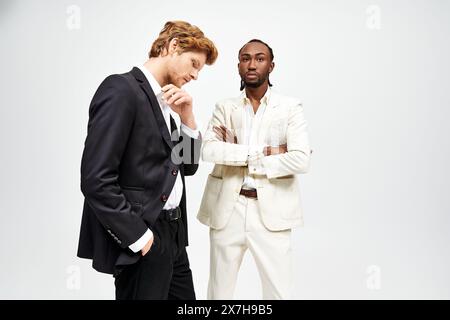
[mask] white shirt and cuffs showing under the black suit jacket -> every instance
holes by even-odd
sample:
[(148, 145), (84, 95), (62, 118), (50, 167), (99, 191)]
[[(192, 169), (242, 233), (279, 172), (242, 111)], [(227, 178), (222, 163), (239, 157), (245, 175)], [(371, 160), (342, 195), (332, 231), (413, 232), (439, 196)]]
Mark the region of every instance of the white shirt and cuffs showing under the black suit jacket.
[[(164, 116), (164, 121), (166, 122), (167, 130), (169, 131), (169, 134), (171, 135), (170, 131), (170, 117), (175, 120), (175, 123), (177, 125), (177, 130), (180, 132), (180, 129), (183, 130), (183, 132), (188, 135), (189, 137), (193, 139), (198, 139), (199, 137), (199, 131), (193, 130), (189, 128), (188, 126), (185, 126), (181, 123), (180, 116), (175, 113), (162, 99), (163, 93), (161, 91), (161, 86), (159, 85), (158, 81), (156, 81), (155, 77), (151, 74), (150, 71), (148, 71), (144, 66), (138, 67), (142, 73), (147, 78), (148, 82), (150, 83), (150, 86), (153, 89), (153, 92), (156, 95), (156, 98), (158, 100), (158, 104), (161, 108), (162, 114)], [(170, 172), (171, 174), (174, 174), (175, 171), (172, 170)], [(177, 175), (177, 178), (175, 180), (175, 185), (173, 186), (173, 189), (165, 201), (164, 210), (173, 209), (179, 206), (181, 197), (183, 196), (183, 181), (181, 180), (181, 175), (179, 172), (175, 173)], [(153, 237), (153, 232), (150, 229), (147, 229), (147, 231), (144, 233), (144, 235), (135, 243), (129, 246), (129, 248), (133, 252), (139, 252), (142, 250), (142, 248), (147, 244), (147, 242)]]

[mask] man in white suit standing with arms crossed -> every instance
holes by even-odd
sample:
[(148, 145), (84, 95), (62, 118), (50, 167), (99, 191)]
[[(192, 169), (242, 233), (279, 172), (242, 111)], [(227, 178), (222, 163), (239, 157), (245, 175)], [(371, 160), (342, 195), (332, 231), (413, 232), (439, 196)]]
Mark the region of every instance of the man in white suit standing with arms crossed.
[(311, 150), (299, 100), (270, 88), (273, 51), (253, 39), (239, 51), (242, 94), (216, 104), (202, 158), (215, 166), (198, 219), (210, 227), (208, 299), (231, 299), (250, 249), (264, 299), (290, 299), (291, 229), (303, 224), (297, 174)]

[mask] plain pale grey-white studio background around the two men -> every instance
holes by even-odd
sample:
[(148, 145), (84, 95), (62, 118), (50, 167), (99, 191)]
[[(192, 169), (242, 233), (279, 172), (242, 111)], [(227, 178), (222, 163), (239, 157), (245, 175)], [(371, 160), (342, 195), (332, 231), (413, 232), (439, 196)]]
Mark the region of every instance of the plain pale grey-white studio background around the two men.
[[(76, 257), (88, 105), (174, 19), (220, 50), (186, 87), (202, 130), (217, 100), (238, 95), (237, 51), (251, 38), (274, 49), (274, 89), (304, 103), (314, 153), (294, 298), (450, 298), (450, 2), (161, 3), (0, 1), (0, 298), (114, 298), (111, 276)], [(187, 180), (200, 299), (209, 244), (195, 216), (210, 169)], [(236, 298), (260, 288), (248, 254)]]

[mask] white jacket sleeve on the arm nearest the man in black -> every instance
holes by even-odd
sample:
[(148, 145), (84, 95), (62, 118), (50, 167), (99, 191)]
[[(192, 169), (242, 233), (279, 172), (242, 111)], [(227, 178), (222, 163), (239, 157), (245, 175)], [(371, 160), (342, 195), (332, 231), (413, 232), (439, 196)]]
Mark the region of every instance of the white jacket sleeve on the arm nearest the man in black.
[(224, 106), (221, 103), (217, 103), (203, 139), (203, 161), (228, 166), (247, 166), (249, 147), (219, 140), (214, 133), (213, 127), (221, 125), (226, 126)]

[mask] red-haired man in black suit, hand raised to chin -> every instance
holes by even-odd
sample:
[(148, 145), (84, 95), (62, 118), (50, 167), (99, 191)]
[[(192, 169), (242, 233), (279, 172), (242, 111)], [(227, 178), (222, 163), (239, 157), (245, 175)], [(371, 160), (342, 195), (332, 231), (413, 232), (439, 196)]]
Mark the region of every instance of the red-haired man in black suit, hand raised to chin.
[(216, 58), (198, 27), (167, 22), (147, 62), (107, 77), (92, 99), (78, 256), (114, 275), (116, 299), (195, 299), (184, 177), (201, 136), (181, 87)]

